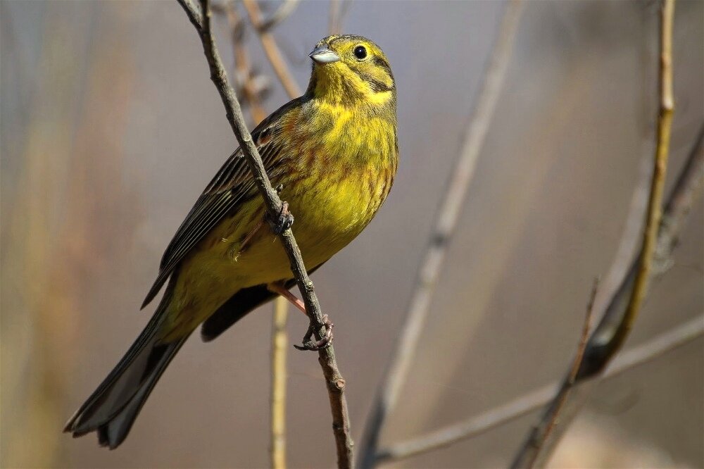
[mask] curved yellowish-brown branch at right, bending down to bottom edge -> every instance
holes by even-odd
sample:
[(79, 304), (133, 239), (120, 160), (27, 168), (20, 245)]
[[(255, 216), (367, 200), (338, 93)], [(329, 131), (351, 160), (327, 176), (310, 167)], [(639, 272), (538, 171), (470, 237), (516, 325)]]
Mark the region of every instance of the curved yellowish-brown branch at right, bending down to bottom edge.
[[(563, 395), (564, 389), (570, 389), (574, 383), (574, 377), (585, 380), (593, 375), (601, 373), (605, 365), (620, 350), (625, 339), (633, 327), (638, 313), (646, 296), (648, 281), (653, 270), (653, 259), (655, 258), (655, 247), (658, 244), (658, 230), (662, 218), (662, 192), (665, 187), (665, 173), (667, 171), (667, 159), (670, 149), (670, 130), (672, 127), (672, 113), (674, 110), (674, 97), (672, 94), (672, 20), (674, 17), (674, 0), (663, 0), (660, 9), (660, 112), (658, 115), (658, 135), (655, 144), (655, 157), (653, 160), (653, 176), (650, 185), (650, 196), (648, 198), (648, 211), (646, 213), (646, 227), (643, 232), (643, 242), (639, 255), (638, 268), (635, 271), (633, 287), (630, 291), (629, 301), (623, 315), (621, 315), (617, 326), (610, 327), (610, 321), (602, 321), (587, 344), (584, 360), (579, 363), (577, 373), (569, 373), (560, 387), (560, 391), (555, 396), (551, 404), (548, 405), (545, 413), (541, 417), (538, 425), (532, 428), (524, 444), (518, 451), (512, 468), (532, 468), (534, 465), (542, 466), (548, 460), (555, 443), (561, 433), (555, 438), (553, 434), (553, 444), (547, 444), (548, 437), (551, 436), (553, 425), (550, 422), (558, 417), (562, 407), (567, 400)], [(604, 316), (606, 318), (606, 315)], [(606, 325), (605, 327), (603, 327)], [(593, 360), (596, 355), (599, 361)], [(608, 350), (604, 353), (604, 350)], [(590, 360), (591, 358), (591, 360)], [(584, 363), (589, 363), (591, 373), (586, 373)], [(596, 367), (594, 364), (596, 363)], [(570, 423), (570, 419), (562, 422), (562, 432)]]

